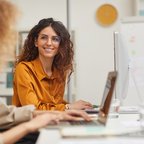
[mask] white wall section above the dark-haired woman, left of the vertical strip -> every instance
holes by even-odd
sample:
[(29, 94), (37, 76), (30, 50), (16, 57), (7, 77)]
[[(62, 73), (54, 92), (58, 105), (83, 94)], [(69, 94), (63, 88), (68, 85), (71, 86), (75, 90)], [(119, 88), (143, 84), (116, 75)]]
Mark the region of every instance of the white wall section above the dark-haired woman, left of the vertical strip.
[(67, 26), (67, 0), (11, 0), (21, 11), (19, 30), (29, 30), (42, 18), (54, 17)]

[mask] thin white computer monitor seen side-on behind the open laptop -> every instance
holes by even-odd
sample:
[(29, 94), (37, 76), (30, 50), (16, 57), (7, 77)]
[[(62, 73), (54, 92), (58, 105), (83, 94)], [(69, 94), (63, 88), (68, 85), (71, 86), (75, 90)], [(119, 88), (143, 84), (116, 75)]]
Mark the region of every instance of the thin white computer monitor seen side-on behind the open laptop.
[(118, 72), (116, 98), (121, 105), (128, 94), (129, 86), (129, 55), (125, 40), (120, 32), (114, 32), (115, 70)]

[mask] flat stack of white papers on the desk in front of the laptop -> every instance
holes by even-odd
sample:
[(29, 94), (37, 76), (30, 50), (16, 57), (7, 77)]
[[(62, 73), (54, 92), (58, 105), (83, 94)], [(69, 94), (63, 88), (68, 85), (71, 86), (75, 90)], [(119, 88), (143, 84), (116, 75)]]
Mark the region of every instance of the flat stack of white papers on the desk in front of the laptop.
[(139, 128), (134, 129), (106, 129), (104, 127), (66, 127), (60, 130), (63, 138), (96, 138), (96, 137), (113, 137), (124, 136), (132, 132), (138, 132)]

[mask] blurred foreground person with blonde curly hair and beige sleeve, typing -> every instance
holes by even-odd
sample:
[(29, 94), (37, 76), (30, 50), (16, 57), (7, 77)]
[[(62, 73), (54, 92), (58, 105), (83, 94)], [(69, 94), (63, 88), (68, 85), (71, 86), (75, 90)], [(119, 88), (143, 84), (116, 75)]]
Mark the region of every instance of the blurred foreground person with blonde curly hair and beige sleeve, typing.
[[(12, 3), (0, 0), (0, 70), (4, 68), (9, 58), (14, 57), (17, 12)], [(4, 131), (5, 128), (13, 126), (0, 133), (0, 144), (15, 143), (26, 134), (35, 132), (47, 124), (58, 123), (60, 120), (77, 120), (76, 116), (90, 120), (86, 113), (81, 111), (36, 111), (33, 105), (17, 108), (0, 101), (0, 130)]]

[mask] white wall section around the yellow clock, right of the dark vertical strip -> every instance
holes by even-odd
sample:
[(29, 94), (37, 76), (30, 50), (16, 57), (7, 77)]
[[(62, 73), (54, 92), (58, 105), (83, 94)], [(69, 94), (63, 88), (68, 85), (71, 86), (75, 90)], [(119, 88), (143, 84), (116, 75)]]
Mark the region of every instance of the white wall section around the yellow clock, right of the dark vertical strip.
[[(132, 0), (71, 0), (70, 29), (75, 32), (76, 99), (99, 104), (108, 71), (114, 69), (113, 31), (119, 29), (120, 19), (133, 14)], [(118, 10), (117, 21), (109, 27), (96, 21), (96, 10), (110, 3)]]

